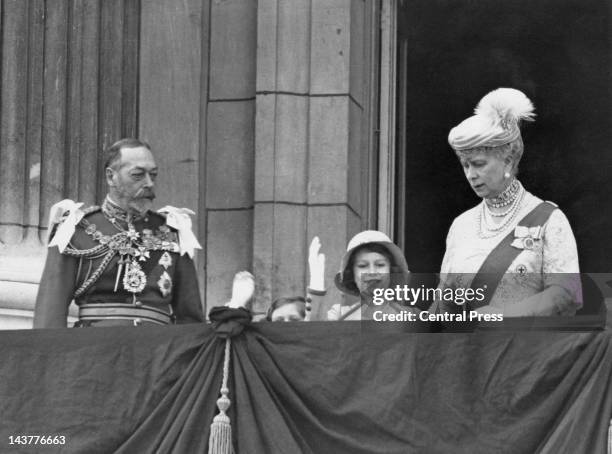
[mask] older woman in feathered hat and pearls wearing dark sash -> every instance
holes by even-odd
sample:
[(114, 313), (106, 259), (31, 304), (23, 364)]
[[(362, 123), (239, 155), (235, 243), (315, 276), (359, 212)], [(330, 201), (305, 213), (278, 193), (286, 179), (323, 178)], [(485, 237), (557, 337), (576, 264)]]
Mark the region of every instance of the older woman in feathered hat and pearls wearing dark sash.
[[(522, 120), (534, 108), (519, 90), (487, 94), (475, 115), (450, 131), (465, 177), (482, 201), (450, 227), (442, 288), (478, 288), (470, 309), (505, 317), (573, 315), (582, 304), (576, 241), (563, 212), (517, 179)], [(444, 303), (446, 310), (456, 305)]]

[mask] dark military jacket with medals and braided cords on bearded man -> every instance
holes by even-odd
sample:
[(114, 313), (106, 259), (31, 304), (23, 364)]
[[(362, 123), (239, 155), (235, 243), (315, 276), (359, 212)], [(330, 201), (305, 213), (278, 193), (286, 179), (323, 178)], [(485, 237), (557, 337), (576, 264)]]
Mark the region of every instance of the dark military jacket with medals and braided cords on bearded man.
[(161, 214), (149, 211), (128, 226), (86, 210), (65, 250), (48, 249), (34, 327), (65, 327), (73, 299), (81, 308), (123, 303), (159, 309), (176, 323), (203, 321), (194, 263), (179, 250)]

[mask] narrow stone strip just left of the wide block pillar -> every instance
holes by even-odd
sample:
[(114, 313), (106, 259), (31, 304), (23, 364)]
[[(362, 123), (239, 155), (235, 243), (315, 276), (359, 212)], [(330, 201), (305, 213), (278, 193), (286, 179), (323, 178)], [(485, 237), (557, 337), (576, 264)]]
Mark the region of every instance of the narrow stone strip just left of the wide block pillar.
[(251, 270), (257, 2), (210, 2), (206, 99), (207, 310)]

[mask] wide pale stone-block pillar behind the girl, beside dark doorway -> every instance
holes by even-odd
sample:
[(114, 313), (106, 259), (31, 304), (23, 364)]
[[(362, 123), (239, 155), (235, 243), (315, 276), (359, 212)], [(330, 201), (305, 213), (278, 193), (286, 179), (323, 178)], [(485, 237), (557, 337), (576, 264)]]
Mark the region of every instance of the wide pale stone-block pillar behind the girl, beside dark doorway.
[(263, 311), (304, 295), (308, 245), (321, 238), (332, 289), (348, 239), (372, 224), (371, 45), (362, 0), (260, 0), (253, 269)]

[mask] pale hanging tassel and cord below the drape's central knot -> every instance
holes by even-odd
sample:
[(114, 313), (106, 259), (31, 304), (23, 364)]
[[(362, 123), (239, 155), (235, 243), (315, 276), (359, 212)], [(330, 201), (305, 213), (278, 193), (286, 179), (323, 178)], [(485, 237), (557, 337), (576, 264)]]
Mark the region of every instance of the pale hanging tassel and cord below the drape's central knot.
[(223, 382), (221, 384), (221, 397), (217, 400), (217, 408), (219, 414), (213, 418), (210, 425), (210, 438), (208, 439), (208, 454), (233, 454), (234, 447), (232, 445), (232, 426), (229, 416), (226, 411), (229, 408), (231, 401), (227, 395), (229, 388), (227, 381), (229, 378), (229, 360), (231, 354), (231, 340), (228, 337), (225, 339), (225, 358), (223, 361)]

